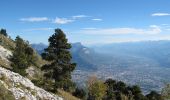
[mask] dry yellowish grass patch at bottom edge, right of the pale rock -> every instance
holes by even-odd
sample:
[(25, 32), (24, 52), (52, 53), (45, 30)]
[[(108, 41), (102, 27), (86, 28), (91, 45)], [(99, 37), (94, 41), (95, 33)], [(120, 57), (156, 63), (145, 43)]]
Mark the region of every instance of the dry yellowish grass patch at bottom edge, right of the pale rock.
[(70, 93), (65, 92), (63, 90), (58, 90), (57, 95), (63, 97), (64, 100), (80, 100), (76, 98), (75, 96), (71, 95)]

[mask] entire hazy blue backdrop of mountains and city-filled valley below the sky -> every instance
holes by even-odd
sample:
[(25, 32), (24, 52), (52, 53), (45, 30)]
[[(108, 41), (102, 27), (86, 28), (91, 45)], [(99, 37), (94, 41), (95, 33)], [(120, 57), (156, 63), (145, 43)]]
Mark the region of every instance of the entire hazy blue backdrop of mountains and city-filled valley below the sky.
[[(39, 53), (47, 46), (33, 44)], [(77, 68), (73, 80), (87, 80), (88, 75), (113, 78), (138, 84), (145, 93), (160, 91), (170, 82), (170, 41), (126, 42), (85, 47), (73, 43), (71, 53)]]

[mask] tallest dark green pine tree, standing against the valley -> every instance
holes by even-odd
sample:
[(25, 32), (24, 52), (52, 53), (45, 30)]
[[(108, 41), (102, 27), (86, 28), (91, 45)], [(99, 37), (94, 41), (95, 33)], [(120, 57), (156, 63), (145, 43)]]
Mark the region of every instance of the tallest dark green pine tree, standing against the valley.
[(55, 33), (48, 41), (49, 47), (42, 53), (42, 57), (51, 63), (42, 67), (42, 70), (45, 71), (44, 75), (55, 81), (55, 91), (57, 88), (70, 91), (74, 87), (74, 83), (71, 81), (71, 72), (76, 66), (71, 62), (72, 56), (69, 51), (71, 44), (68, 43), (66, 35), (61, 29), (55, 29)]

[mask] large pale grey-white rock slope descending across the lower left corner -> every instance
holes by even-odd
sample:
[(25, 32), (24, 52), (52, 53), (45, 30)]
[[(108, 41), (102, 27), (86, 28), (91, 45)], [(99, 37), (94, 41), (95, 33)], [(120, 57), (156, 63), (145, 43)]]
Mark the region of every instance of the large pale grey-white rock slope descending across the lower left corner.
[(29, 79), (18, 73), (0, 67), (0, 83), (12, 92), (16, 100), (63, 100), (35, 86)]

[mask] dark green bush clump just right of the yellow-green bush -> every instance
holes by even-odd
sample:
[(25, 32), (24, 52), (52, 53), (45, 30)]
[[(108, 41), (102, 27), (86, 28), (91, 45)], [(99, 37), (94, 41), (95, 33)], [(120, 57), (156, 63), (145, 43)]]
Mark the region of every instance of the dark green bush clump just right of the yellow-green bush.
[(106, 100), (146, 100), (139, 86), (127, 86), (122, 81), (108, 79), (105, 81), (108, 86)]

